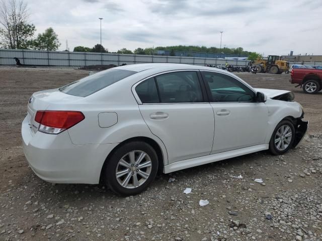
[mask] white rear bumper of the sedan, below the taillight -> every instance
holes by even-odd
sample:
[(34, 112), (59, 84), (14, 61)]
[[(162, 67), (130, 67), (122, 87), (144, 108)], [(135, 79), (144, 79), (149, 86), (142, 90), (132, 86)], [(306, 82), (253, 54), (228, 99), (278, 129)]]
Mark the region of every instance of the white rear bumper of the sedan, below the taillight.
[(22, 123), (23, 151), (37, 176), (53, 183), (99, 183), (107, 155), (117, 144), (74, 145), (67, 131), (32, 135), (27, 117)]

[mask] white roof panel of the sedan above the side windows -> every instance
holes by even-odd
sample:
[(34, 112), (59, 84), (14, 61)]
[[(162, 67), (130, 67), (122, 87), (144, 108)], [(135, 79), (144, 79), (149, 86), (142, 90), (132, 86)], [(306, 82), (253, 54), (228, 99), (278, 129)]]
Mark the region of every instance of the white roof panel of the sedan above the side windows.
[(212, 70), (216, 72), (227, 72), (225, 70), (213, 67), (191, 65), (191, 64), (174, 64), (174, 63), (149, 63), (149, 64), (130, 64), (115, 67), (113, 69), (124, 69), (135, 72), (141, 72), (145, 70), (155, 69), (155, 72), (162, 69), (162, 71), (171, 71), (171, 70), (184, 70), (184, 69), (200, 69), (200, 70)]

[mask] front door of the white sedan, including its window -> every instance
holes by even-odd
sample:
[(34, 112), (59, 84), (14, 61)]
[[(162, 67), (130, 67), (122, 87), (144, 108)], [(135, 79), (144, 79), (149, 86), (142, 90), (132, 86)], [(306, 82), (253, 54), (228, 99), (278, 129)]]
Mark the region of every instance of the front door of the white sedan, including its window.
[(268, 108), (256, 93), (224, 73), (202, 71), (215, 115), (211, 154), (265, 144)]

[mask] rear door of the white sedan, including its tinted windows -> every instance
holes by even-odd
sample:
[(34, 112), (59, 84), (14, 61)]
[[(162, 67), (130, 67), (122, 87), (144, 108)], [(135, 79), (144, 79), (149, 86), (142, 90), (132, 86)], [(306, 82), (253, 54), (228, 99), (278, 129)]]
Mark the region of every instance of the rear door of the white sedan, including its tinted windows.
[(134, 86), (144, 121), (167, 148), (168, 164), (211, 152), (214, 114), (198, 76), (198, 71), (174, 71)]

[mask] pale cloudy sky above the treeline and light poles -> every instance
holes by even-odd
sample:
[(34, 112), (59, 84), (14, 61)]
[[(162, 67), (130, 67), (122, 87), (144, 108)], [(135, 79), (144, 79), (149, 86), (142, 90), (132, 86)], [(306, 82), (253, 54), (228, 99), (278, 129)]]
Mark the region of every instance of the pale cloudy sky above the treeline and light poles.
[(25, 0), (37, 33), (53, 27), (60, 50), (100, 42), (109, 51), (166, 45), (322, 54), (320, 0)]

